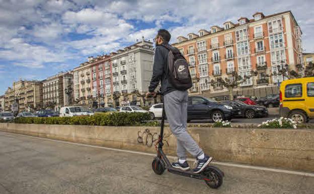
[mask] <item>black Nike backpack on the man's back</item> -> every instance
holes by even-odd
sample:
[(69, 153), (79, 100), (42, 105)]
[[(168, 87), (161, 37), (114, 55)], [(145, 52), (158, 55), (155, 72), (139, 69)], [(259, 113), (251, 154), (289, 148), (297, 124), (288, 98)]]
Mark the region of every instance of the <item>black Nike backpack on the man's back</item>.
[(169, 50), (169, 74), (168, 80), (178, 90), (187, 90), (192, 87), (192, 79), (189, 71), (189, 63), (178, 48), (168, 44), (162, 44)]

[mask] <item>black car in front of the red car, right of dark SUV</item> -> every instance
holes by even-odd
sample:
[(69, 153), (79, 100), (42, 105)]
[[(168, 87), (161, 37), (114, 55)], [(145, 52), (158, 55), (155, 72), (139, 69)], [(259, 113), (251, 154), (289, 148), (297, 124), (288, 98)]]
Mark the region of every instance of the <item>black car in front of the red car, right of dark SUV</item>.
[(236, 116), (241, 116), (245, 118), (254, 118), (254, 117), (263, 117), (268, 115), (268, 110), (265, 106), (260, 106), (260, 105), (248, 105), (244, 102), (241, 102), (239, 100), (234, 100), (234, 101), (223, 101), (224, 103), (229, 104), (234, 107), (237, 107), (240, 109), (240, 114)]

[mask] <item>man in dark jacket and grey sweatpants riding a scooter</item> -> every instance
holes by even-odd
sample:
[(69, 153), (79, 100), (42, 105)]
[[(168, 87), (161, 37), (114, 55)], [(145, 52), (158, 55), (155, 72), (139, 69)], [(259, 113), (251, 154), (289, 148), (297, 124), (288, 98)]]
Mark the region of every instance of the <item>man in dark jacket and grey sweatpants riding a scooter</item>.
[[(189, 170), (186, 151), (196, 158), (197, 165), (192, 170), (200, 173), (211, 161), (212, 157), (204, 154), (190, 134), (187, 132), (188, 92), (191, 87), (191, 77), (183, 56), (173, 53), (178, 49), (169, 44), (171, 35), (161, 29), (154, 38), (156, 44), (153, 74), (146, 96), (155, 96), (154, 90), (161, 82), (161, 92), (164, 95), (165, 112), (172, 133), (177, 137), (178, 160), (172, 163), (174, 168)], [(174, 52), (173, 52), (174, 51)]]

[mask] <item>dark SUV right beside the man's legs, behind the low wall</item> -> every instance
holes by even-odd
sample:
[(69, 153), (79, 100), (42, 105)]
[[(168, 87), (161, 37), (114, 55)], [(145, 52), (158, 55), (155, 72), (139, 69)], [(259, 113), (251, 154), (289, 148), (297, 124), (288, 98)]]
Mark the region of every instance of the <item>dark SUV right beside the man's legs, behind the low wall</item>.
[(192, 119), (230, 120), (232, 107), (202, 96), (189, 96), (188, 122)]

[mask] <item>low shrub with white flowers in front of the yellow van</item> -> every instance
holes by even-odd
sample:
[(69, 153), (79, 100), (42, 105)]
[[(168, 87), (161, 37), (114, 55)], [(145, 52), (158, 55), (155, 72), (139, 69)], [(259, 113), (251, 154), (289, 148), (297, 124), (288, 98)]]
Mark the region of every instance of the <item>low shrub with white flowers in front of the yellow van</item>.
[(297, 128), (296, 123), (291, 118), (274, 118), (259, 124), (260, 128)]

